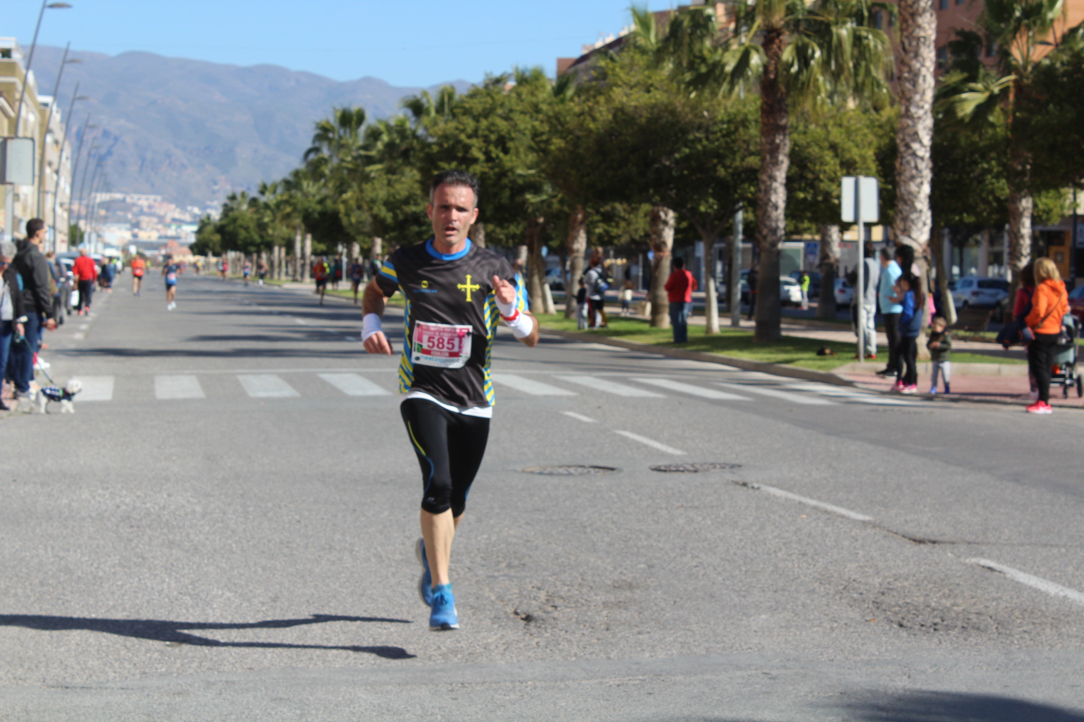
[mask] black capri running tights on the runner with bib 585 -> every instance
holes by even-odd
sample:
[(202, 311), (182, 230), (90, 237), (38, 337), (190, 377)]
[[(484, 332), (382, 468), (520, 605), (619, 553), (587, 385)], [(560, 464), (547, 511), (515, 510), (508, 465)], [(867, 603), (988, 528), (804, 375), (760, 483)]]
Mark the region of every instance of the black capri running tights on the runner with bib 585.
[(422, 509), (460, 516), (489, 439), (489, 419), (449, 411), (425, 398), (399, 405), (422, 467)]

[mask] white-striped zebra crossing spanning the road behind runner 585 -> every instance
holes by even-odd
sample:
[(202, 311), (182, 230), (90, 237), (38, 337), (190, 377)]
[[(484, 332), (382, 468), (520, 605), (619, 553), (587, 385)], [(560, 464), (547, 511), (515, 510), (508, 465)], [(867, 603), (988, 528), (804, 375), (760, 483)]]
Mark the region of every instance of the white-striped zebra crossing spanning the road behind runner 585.
[[(622, 398), (656, 399), (693, 396), (712, 402), (748, 404), (763, 398), (801, 406), (835, 406), (839, 404), (872, 404), (880, 406), (915, 406), (916, 402), (866, 392), (851, 386), (815, 382), (797, 382), (765, 375), (727, 373), (726, 381), (689, 379), (669, 376), (583, 375), (519, 371), (493, 373), (499, 393), (509, 396), (572, 398), (610, 395)], [(230, 379), (232, 377), (232, 380)], [(145, 378), (145, 377), (144, 377)], [(215, 379), (215, 381), (208, 381)], [(318, 381), (312, 381), (317, 379)], [(138, 377), (79, 377), (82, 392), (78, 403), (114, 401), (116, 391), (126, 399), (140, 398), (146, 386)], [(211, 384), (211, 389), (208, 389)], [(285, 370), (274, 372), (196, 371), (154, 376), (153, 397), (159, 402), (199, 401), (223, 395), (244, 394), (256, 399), (291, 399), (306, 396), (378, 398), (398, 393), (397, 379), (387, 369), (360, 372), (326, 369)], [(134, 394), (134, 395), (133, 395)], [(149, 397), (149, 394), (144, 394)]]

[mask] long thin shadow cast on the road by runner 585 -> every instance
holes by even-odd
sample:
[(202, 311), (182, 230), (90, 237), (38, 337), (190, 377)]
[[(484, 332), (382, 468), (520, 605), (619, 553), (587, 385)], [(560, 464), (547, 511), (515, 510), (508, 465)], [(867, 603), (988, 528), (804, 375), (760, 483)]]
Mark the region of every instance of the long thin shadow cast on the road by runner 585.
[(409, 619), (388, 619), (385, 617), (341, 617), (326, 614), (314, 614), (305, 619), (268, 619), (254, 622), (198, 622), (198, 621), (159, 621), (155, 619), (92, 619), (87, 617), (48, 617), (41, 615), (0, 615), (0, 627), (24, 627), (40, 631), (104, 632), (119, 636), (132, 636), (152, 642), (170, 644), (189, 644), (205, 647), (256, 647), (280, 649), (341, 649), (345, 652), (364, 652), (384, 657), (385, 659), (413, 659), (402, 647), (392, 646), (334, 646), (327, 644), (285, 644), (279, 642), (220, 642), (189, 634), (186, 629), (285, 629), (300, 625), (318, 625), (327, 621), (377, 621), (393, 625), (409, 625)]

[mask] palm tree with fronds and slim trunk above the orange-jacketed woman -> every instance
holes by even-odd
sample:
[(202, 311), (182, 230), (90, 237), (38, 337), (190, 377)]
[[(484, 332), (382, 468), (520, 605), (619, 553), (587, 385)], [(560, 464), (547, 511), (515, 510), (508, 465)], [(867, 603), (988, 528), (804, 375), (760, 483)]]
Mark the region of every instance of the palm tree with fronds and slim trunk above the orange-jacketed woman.
[(941, 91), (960, 121), (1008, 123), (1008, 263), (1014, 283), (1019, 283), (1020, 271), (1031, 260), (1034, 210), (1031, 139), (1027, 114), (1020, 108), (1032, 100), (1036, 71), (1048, 62), (1047, 51), (1058, 42), (1056, 30), (1063, 17), (1063, 0), (986, 0), (980, 25), (986, 47), (997, 49), (997, 73), (964, 57), (946, 74)]

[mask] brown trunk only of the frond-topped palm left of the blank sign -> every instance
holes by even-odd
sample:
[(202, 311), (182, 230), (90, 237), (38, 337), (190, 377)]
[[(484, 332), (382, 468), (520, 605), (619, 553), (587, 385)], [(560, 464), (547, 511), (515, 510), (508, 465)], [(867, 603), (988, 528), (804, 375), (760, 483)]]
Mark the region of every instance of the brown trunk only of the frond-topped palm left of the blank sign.
[(790, 116), (779, 78), (786, 43), (783, 29), (764, 30), (765, 63), (760, 82), (760, 179), (757, 186), (757, 245), (760, 280), (757, 286), (757, 330), (753, 339), (776, 341), (779, 320), (779, 244), (787, 231), (787, 168), (790, 166)]

